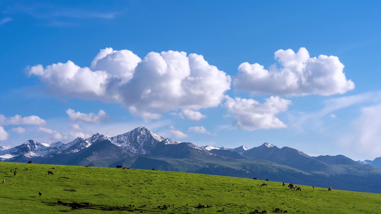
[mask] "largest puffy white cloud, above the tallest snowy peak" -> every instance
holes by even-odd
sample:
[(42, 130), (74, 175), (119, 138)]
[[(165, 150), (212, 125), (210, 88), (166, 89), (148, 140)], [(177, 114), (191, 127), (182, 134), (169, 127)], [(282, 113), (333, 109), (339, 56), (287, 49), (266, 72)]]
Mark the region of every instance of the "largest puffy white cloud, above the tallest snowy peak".
[(141, 59), (129, 50), (106, 48), (90, 68), (68, 61), (27, 69), (56, 96), (119, 103), (146, 119), (217, 107), (231, 85), (231, 77), (202, 55), (183, 51), (150, 52)]

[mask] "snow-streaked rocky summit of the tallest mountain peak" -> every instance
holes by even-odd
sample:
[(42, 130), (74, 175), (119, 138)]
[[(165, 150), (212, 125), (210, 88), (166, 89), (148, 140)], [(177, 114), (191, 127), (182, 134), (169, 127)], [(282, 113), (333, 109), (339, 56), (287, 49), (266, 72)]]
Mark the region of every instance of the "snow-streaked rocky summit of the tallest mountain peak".
[(120, 145), (123, 149), (132, 154), (146, 154), (158, 142), (164, 142), (165, 144), (180, 143), (179, 141), (174, 141), (155, 134), (141, 126), (127, 133), (111, 137), (109, 140), (115, 145)]

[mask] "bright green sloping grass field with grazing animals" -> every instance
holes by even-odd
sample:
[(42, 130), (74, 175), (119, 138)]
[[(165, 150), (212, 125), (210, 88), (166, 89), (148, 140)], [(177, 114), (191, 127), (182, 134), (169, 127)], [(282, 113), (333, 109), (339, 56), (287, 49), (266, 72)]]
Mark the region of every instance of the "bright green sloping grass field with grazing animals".
[[(16, 176), (13, 176), (16, 167)], [(335, 189), (328, 192), (327, 188), (312, 189), (296, 184), (302, 188), (299, 192), (279, 182), (183, 172), (8, 162), (0, 162), (0, 171), (0, 179), (5, 179), (5, 184), (0, 181), (0, 213), (5, 214), (140, 213), (140, 210), (143, 213), (207, 214), (253, 213), (255, 209), (271, 213), (276, 208), (288, 213), (353, 214), (379, 213), (381, 203), (381, 195), (373, 193)], [(54, 175), (48, 175), (48, 171)], [(260, 187), (264, 182), (267, 187)], [(71, 207), (58, 205), (58, 200), (92, 205), (71, 210)], [(212, 207), (199, 209), (199, 203)], [(134, 207), (124, 208), (130, 204)], [(163, 204), (171, 204), (171, 207), (157, 208)], [(115, 206), (120, 209), (101, 209), (110, 210)]]

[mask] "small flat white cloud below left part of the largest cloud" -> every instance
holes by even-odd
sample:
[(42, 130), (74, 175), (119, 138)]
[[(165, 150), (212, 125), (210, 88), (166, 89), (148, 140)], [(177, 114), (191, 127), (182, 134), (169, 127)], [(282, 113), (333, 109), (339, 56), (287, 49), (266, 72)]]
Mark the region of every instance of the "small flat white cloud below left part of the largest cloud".
[(81, 112), (75, 112), (73, 109), (67, 109), (66, 110), (67, 115), (69, 115), (70, 120), (72, 121), (82, 121), (85, 123), (93, 123), (93, 124), (99, 124), (102, 122), (106, 122), (109, 120), (109, 116), (106, 114), (104, 110), (99, 110), (98, 114), (94, 113), (81, 113)]

